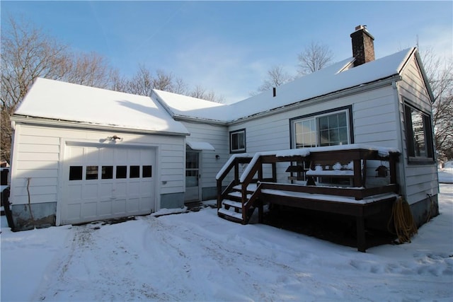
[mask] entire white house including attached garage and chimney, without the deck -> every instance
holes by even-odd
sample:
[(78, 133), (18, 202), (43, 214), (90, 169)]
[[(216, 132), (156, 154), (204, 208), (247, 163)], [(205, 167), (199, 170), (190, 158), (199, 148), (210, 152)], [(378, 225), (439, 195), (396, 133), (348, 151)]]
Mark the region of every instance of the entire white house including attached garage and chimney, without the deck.
[(214, 199), (232, 154), (338, 144), (400, 150), (399, 192), (423, 223), (437, 214), (438, 185), (420, 57), (410, 48), (375, 60), (365, 27), (351, 37), (353, 57), (231, 105), (39, 79), (12, 117), (16, 223), (30, 220), (29, 202), (35, 221), (59, 225)]

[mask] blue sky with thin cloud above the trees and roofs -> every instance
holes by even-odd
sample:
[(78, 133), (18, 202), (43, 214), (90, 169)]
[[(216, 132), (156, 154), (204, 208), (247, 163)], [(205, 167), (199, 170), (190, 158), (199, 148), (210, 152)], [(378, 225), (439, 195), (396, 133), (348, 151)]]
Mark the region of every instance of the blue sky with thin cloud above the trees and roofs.
[(311, 41), (333, 62), (352, 56), (350, 33), (367, 25), (376, 57), (416, 45), (453, 55), (453, 1), (1, 1), (13, 16), (130, 76), (139, 64), (190, 86), (247, 98), (280, 65), (295, 74)]

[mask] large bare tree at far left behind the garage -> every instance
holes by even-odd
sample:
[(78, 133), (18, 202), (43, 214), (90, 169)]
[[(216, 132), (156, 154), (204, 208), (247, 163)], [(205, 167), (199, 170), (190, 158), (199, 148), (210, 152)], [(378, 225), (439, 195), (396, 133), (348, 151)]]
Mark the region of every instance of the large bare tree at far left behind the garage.
[[(107, 86), (110, 71), (96, 54), (75, 56), (30, 23), (9, 18), (1, 32), (1, 159), (9, 161), (10, 117), (38, 77)], [(75, 57), (75, 59), (74, 59)]]

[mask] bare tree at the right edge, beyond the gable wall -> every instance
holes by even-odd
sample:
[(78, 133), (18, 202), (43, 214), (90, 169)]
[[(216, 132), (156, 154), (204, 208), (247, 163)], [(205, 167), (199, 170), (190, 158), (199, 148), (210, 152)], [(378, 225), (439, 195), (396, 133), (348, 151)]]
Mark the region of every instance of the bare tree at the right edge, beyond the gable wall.
[(434, 95), (432, 123), (438, 156), (453, 158), (453, 59), (437, 56), (431, 48), (420, 52)]

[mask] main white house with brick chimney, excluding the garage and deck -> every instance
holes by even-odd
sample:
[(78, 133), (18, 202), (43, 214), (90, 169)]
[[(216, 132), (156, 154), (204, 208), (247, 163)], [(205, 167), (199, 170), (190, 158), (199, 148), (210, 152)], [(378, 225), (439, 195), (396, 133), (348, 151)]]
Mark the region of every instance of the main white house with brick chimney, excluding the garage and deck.
[[(214, 198), (213, 175), (224, 156), (368, 144), (401, 151), (399, 192), (418, 225), (437, 215), (434, 99), (418, 51), (409, 48), (375, 60), (374, 37), (364, 26), (357, 26), (351, 38), (353, 57), (231, 105), (164, 91), (151, 94), (189, 129), (190, 139), (215, 146), (218, 161), (201, 151), (203, 199)], [(219, 140), (222, 133), (226, 137)], [(285, 173), (280, 175), (285, 178), (279, 182), (288, 182)]]

